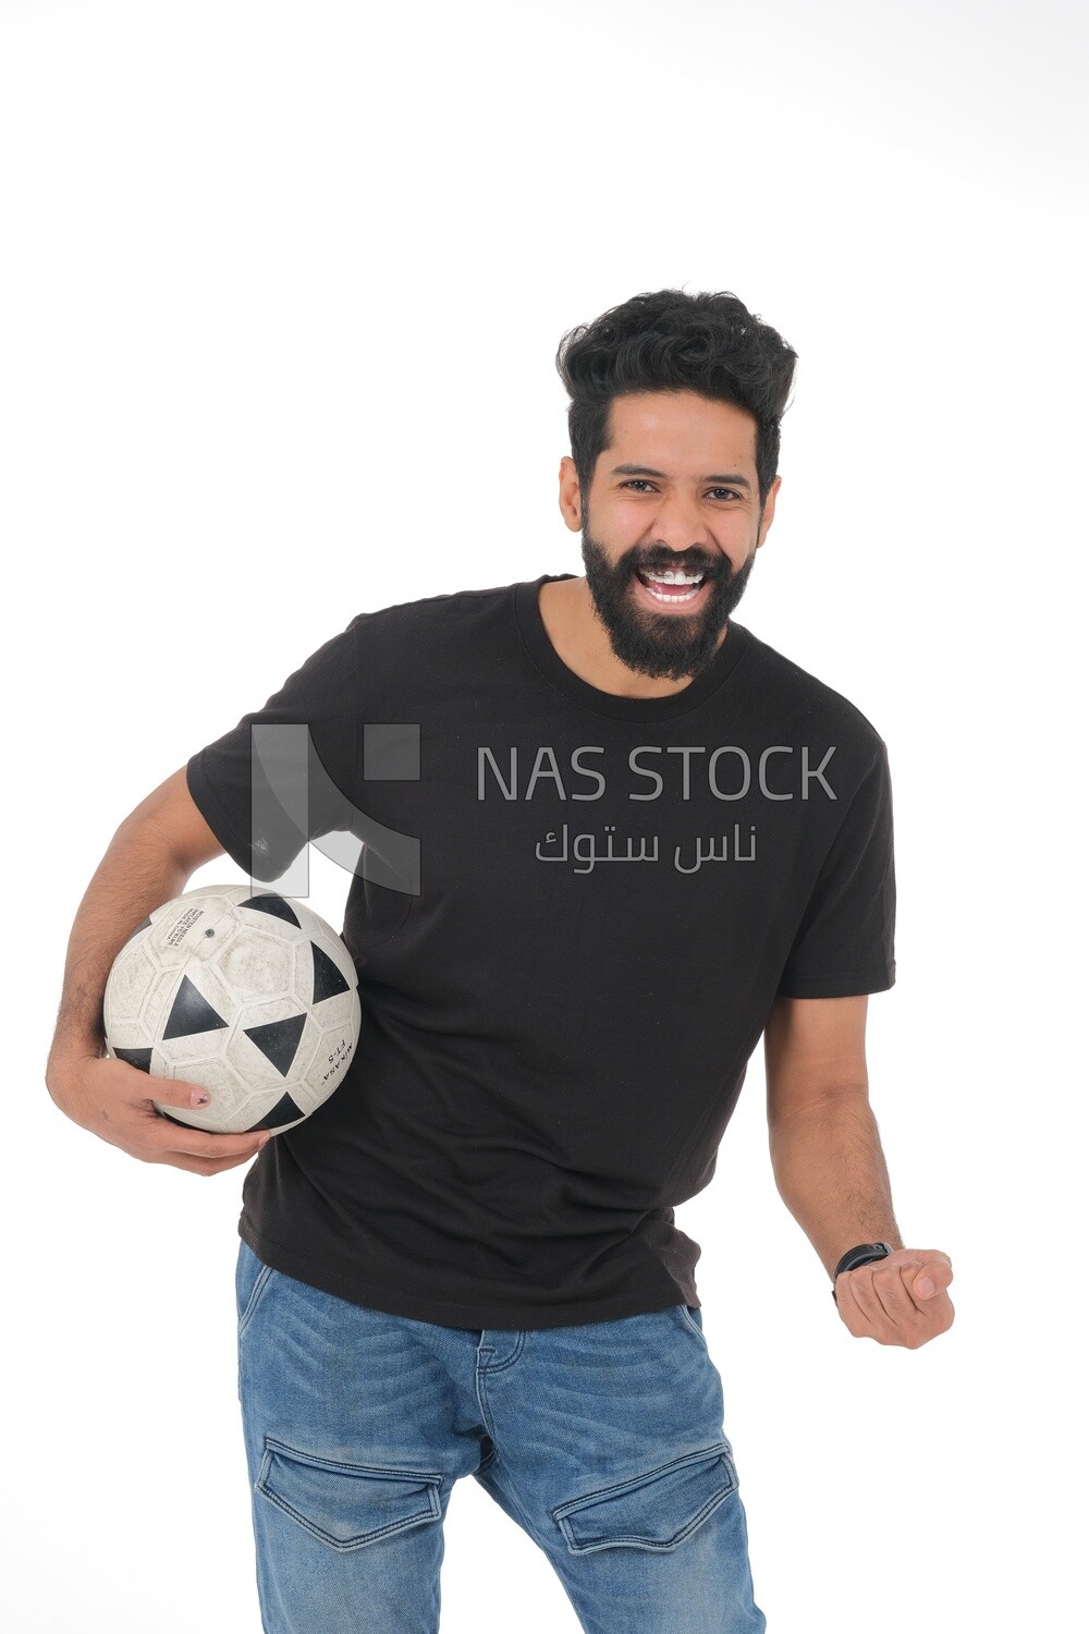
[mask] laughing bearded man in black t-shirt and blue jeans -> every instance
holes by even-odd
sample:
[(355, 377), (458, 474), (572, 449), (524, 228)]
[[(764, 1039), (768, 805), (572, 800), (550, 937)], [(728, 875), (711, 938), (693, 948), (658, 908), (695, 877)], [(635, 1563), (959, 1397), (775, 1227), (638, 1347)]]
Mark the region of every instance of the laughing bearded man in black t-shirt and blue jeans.
[[(638, 296), (568, 333), (560, 510), (586, 577), (359, 614), (126, 819), (80, 907), (57, 1105), (145, 1162), (260, 1152), (237, 1294), (274, 1634), (438, 1627), (465, 1474), (583, 1629), (766, 1626), (674, 1226), (761, 1034), (776, 1180), (839, 1317), (906, 1346), (952, 1322), (867, 1095), (867, 995), (895, 979), (885, 745), (731, 619), (795, 361), (730, 294)], [(305, 832), (251, 788), (253, 724), (309, 730)], [(220, 851), (273, 881), (335, 830), (364, 842), (349, 1075), (271, 1142), (157, 1116), (101, 1056), (118, 948)]]

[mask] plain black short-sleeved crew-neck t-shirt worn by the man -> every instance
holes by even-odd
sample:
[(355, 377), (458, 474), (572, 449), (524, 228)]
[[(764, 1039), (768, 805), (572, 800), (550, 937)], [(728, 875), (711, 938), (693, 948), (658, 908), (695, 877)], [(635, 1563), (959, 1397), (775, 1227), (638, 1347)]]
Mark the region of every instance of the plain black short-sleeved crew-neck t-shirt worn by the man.
[(870, 722), (733, 621), (684, 691), (602, 693), (540, 618), (570, 577), (362, 613), (188, 765), (268, 882), (304, 835), (251, 799), (250, 727), (305, 725), (297, 825), (364, 842), (358, 1054), (258, 1155), (238, 1230), (289, 1276), (447, 1327), (697, 1306), (674, 1208), (713, 1175), (776, 993), (895, 979)]

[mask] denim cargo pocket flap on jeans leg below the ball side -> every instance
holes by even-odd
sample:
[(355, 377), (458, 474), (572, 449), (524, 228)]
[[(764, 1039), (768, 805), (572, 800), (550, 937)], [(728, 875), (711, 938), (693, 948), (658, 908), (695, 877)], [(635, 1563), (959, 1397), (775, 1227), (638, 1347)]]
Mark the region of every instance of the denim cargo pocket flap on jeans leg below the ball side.
[(441, 1520), (441, 1476), (313, 1458), (266, 1438), (256, 1490), (330, 1549)]

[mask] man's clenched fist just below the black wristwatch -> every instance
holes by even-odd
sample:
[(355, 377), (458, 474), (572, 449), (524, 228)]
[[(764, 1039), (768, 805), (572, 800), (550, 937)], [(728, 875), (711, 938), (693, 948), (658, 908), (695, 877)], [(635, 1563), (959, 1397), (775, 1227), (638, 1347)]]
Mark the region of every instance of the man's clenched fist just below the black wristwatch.
[(838, 1276), (836, 1306), (856, 1338), (918, 1350), (953, 1324), (945, 1292), (952, 1279), (952, 1260), (940, 1248), (896, 1248)]

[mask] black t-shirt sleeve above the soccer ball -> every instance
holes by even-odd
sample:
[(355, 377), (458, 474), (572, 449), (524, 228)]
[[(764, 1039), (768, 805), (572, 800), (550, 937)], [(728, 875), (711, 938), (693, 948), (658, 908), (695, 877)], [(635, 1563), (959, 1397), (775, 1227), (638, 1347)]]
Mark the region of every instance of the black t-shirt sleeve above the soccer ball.
[[(294, 730), (278, 734), (271, 727)], [(361, 804), (361, 745), (353, 621), (312, 654), (263, 709), (243, 716), (193, 755), (186, 783), (227, 855), (255, 879), (271, 881), (287, 871), (309, 840), (353, 827)]]

